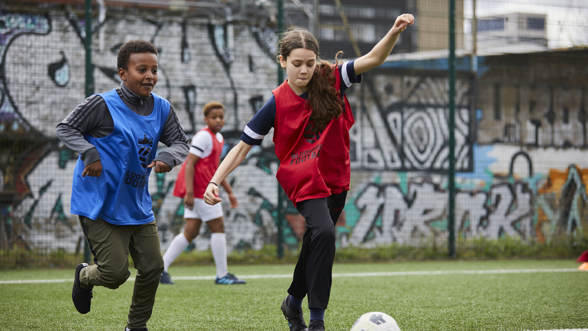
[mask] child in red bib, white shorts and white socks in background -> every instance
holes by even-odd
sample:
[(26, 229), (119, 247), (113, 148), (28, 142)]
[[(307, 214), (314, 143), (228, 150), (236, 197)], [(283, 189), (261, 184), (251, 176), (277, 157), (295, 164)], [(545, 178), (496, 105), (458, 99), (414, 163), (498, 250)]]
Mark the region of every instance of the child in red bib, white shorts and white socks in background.
[[(188, 247), (192, 240), (200, 233), (202, 222), (211, 229), (211, 250), (216, 264), (216, 284), (243, 284), (245, 280), (238, 279), (228, 272), (226, 262), (226, 234), (223, 222), (223, 211), (220, 204), (211, 206), (203, 200), (206, 183), (208, 183), (219, 167), (223, 140), (220, 129), (225, 125), (225, 105), (218, 101), (208, 102), (204, 108), (206, 127), (198, 131), (192, 138), (192, 146), (186, 162), (178, 173), (173, 195), (183, 198), (184, 219), (186, 227), (182, 233), (173, 238), (168, 249), (163, 254), (164, 268), (160, 282), (173, 284), (168, 268)], [(238, 206), (237, 198), (226, 180), (221, 182), (229, 195), (230, 207)]]

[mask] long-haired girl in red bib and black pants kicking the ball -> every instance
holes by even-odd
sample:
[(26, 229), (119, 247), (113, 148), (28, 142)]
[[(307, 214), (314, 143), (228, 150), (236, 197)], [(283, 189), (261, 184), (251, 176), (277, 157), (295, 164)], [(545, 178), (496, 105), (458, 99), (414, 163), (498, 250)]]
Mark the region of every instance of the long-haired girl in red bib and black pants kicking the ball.
[[(274, 128), (273, 143), (280, 160), (276, 178), (307, 226), (289, 296), (281, 306), (290, 331), (325, 330), (335, 223), (349, 190), (349, 129), (355, 123), (345, 90), (360, 82), (360, 74), (382, 65), (400, 33), (414, 21), (411, 14), (398, 16), (372, 51), (343, 64), (320, 61), (318, 42), (306, 29), (286, 31), (280, 38), (278, 61), (288, 80), (272, 91), (270, 100), (249, 121), (242, 141), (230, 150), (206, 187), (206, 203), (222, 201), (217, 183)], [(308, 327), (302, 317), (302, 299), (307, 294)]]

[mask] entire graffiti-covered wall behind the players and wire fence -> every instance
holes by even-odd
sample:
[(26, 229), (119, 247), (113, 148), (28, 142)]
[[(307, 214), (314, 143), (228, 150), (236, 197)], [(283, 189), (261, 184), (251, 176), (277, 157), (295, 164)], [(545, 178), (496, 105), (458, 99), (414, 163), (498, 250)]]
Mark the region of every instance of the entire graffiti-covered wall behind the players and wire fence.
[[(78, 220), (69, 214), (78, 155), (59, 142), (55, 127), (84, 98), (85, 31), (81, 14), (64, 8), (0, 12), (2, 248), (83, 249)], [(228, 109), (222, 133), (229, 147), (235, 144), (276, 86), (276, 37), (263, 8), (234, 22), (226, 12), (211, 13), (109, 9), (92, 37), (94, 91), (120, 84), (116, 52), (123, 42), (149, 40), (159, 51), (154, 92), (171, 101), (186, 133), (204, 125), (202, 106), (218, 100)], [(560, 84), (559, 75), (570, 69), (560, 61), (560, 71), (540, 80), (529, 74), (512, 88), (505, 69), (492, 61), (480, 65), (476, 80), (462, 73), (457, 81), (457, 236), (529, 243), (586, 236), (585, 83)], [(443, 70), (418, 61), (383, 66), (348, 90), (356, 124), (350, 131), (351, 190), (337, 224), (340, 247), (447, 240)], [(228, 177), (239, 200), (238, 208), (223, 206), (230, 249), (276, 243), (280, 208), (271, 135)], [(183, 226), (181, 199), (172, 195), (177, 171), (149, 178), (162, 249)], [(305, 226), (292, 203), (286, 221), (286, 243), (295, 247)], [(194, 245), (208, 249), (208, 231)]]

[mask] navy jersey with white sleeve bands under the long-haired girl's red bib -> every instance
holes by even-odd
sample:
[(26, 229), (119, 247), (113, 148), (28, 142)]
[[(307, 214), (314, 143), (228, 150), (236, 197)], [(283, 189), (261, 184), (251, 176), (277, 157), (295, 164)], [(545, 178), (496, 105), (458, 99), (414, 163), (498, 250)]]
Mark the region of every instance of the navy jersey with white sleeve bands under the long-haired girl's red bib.
[[(345, 90), (353, 83), (359, 83), (362, 80), (361, 74), (355, 75), (355, 68), (353, 68), (353, 61), (345, 62), (339, 65), (339, 76), (341, 81), (340, 97), (343, 99)], [(308, 92), (300, 95), (301, 98), (308, 99)], [(248, 145), (261, 145), (263, 138), (269, 133), (276, 120), (276, 98), (272, 95), (263, 107), (253, 115), (253, 118), (245, 126), (241, 140)]]

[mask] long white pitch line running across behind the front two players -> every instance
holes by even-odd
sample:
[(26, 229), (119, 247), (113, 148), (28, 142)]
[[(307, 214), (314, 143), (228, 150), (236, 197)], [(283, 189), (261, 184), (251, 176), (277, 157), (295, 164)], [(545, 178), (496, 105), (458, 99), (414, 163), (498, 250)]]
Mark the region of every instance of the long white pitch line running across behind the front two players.
[[(369, 273), (333, 273), (333, 277), (377, 277), (377, 276), (430, 276), (439, 274), (505, 274), (505, 273), (564, 273), (579, 272), (578, 269), (515, 269), (515, 270), (450, 270), (432, 272), (369, 272)], [(252, 274), (239, 276), (242, 279), (261, 278), (292, 278), (292, 274)], [(173, 280), (214, 280), (215, 276), (183, 276), (173, 277)], [(135, 277), (129, 277), (131, 282)], [(0, 280), (0, 284), (25, 284), (25, 283), (67, 283), (72, 279), (45, 279), (45, 280)], [(579, 329), (580, 330), (580, 329)], [(588, 331), (588, 329), (582, 329)], [(542, 330), (543, 331), (543, 330)]]

